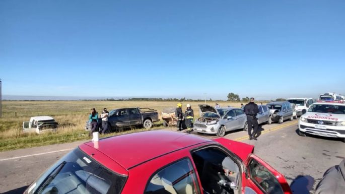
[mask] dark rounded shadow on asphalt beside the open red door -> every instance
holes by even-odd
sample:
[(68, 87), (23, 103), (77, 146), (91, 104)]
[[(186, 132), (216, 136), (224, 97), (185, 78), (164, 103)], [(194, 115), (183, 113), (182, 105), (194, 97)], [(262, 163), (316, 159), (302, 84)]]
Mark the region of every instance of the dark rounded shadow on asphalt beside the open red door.
[(291, 183), (290, 188), (294, 194), (309, 194), (313, 190), (315, 180), (309, 175), (298, 175)]

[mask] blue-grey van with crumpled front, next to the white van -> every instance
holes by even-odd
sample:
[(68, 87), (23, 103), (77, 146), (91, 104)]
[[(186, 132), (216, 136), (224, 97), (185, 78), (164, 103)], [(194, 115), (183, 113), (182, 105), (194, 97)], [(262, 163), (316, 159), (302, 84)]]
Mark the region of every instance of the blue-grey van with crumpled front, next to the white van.
[(272, 122), (283, 123), (284, 120), (294, 120), (294, 109), (288, 101), (269, 102), (267, 106), (270, 110)]

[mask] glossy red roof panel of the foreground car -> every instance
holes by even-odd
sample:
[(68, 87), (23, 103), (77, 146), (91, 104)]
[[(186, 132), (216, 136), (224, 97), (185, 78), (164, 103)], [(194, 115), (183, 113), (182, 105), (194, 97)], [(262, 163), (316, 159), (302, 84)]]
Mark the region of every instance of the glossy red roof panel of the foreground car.
[[(149, 131), (87, 142), (80, 148), (89, 155), (92, 150), (97, 149), (128, 170), (160, 155), (204, 142), (213, 141), (184, 133)], [(97, 160), (107, 166), (106, 159)]]

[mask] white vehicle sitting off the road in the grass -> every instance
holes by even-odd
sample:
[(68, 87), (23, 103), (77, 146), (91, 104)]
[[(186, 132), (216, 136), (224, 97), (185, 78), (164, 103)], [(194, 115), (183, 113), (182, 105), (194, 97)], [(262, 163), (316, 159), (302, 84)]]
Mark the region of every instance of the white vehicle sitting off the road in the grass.
[(33, 116), (30, 118), (30, 121), (23, 122), (23, 132), (36, 132), (40, 134), (42, 132), (56, 131), (57, 126), (58, 123), (51, 116)]

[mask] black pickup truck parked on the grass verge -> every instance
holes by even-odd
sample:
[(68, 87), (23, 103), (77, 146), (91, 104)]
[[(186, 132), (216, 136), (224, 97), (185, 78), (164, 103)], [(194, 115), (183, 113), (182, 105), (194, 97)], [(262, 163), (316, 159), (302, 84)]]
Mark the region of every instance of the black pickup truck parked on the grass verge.
[[(127, 128), (130, 126), (143, 126), (144, 128), (151, 128), (153, 122), (159, 121), (157, 110), (151, 108), (119, 108), (109, 112), (108, 128), (112, 132), (116, 132), (119, 128)], [(102, 129), (102, 119), (98, 118), (99, 130)], [(90, 131), (90, 121), (86, 122), (86, 131)]]

